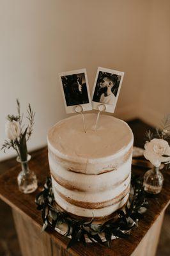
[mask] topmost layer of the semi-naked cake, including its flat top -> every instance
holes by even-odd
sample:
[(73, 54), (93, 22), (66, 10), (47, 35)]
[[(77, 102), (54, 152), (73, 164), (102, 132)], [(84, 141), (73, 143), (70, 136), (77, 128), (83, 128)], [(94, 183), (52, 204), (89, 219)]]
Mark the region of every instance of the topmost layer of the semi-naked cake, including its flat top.
[(128, 125), (108, 115), (101, 115), (94, 131), (96, 114), (85, 114), (87, 132), (81, 115), (66, 118), (50, 129), (47, 142), (55, 161), (78, 173), (98, 174), (116, 170), (132, 153), (133, 134)]

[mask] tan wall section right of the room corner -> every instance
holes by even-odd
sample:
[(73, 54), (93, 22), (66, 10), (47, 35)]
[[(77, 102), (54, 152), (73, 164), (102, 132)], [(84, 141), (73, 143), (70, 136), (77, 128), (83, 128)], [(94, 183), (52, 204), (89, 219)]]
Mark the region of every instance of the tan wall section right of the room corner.
[(170, 1), (151, 3), (139, 115), (159, 125), (170, 113)]

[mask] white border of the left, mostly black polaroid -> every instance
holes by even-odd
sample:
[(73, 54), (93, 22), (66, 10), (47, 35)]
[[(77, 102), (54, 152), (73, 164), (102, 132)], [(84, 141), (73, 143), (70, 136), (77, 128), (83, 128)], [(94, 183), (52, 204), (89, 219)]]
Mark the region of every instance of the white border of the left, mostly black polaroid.
[[(76, 75), (76, 74), (81, 74), (81, 73), (84, 73), (84, 76), (85, 76), (86, 86), (87, 86), (87, 91), (88, 91), (88, 100), (89, 100), (89, 103), (86, 103), (86, 104), (79, 104), (79, 105), (73, 105), (73, 106), (67, 106), (67, 105), (66, 105), (65, 92), (64, 92), (64, 89), (63, 89), (63, 83), (62, 83), (61, 77), (62, 77), (62, 76), (69, 76), (69, 75)], [(76, 112), (75, 112), (75, 107), (76, 107), (76, 106), (82, 106), (83, 111), (92, 110), (91, 96), (90, 96), (90, 92), (89, 92), (89, 83), (88, 83), (88, 76), (87, 76), (86, 68), (81, 68), (81, 69), (77, 69), (77, 70), (62, 72), (62, 73), (59, 73), (58, 75), (59, 75), (59, 83), (60, 83), (60, 85), (61, 85), (61, 92), (62, 92), (64, 104), (65, 104), (66, 113), (67, 113), (67, 114), (76, 113)]]

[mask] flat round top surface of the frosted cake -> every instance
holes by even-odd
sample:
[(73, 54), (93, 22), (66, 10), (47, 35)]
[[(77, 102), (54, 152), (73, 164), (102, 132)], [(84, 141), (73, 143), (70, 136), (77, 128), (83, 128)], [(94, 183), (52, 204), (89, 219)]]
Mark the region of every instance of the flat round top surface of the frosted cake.
[(49, 130), (48, 143), (65, 156), (96, 159), (120, 152), (133, 140), (130, 127), (118, 118), (100, 115), (97, 131), (96, 113), (84, 114), (84, 120), (86, 133), (81, 115), (59, 121)]

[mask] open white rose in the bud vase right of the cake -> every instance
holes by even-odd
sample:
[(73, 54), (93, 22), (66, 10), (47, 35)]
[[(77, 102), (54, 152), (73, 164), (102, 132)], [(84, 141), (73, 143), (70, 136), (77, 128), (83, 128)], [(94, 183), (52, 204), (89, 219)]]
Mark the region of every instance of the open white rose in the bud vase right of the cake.
[[(170, 147), (166, 140), (153, 139), (144, 145), (144, 157), (154, 166), (159, 167), (162, 162), (170, 161)], [(164, 157), (167, 155), (169, 157)]]

